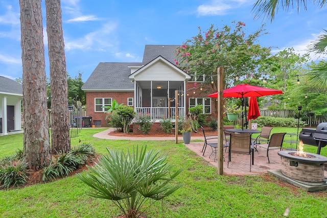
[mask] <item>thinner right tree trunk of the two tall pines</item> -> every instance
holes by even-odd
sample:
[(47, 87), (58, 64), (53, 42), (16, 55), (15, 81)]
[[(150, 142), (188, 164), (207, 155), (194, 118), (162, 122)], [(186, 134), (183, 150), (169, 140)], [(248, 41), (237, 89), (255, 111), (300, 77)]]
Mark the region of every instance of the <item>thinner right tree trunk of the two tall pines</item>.
[(68, 122), (67, 71), (60, 0), (45, 0), (51, 89), (52, 153), (71, 150)]

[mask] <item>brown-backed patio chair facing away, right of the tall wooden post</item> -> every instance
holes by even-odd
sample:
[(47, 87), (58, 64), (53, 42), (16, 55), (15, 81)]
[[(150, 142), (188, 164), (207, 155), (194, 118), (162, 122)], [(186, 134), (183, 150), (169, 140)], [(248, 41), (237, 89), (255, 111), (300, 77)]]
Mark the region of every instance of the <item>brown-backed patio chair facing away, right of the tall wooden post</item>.
[(250, 172), (251, 165), (253, 164), (253, 143), (251, 143), (251, 134), (249, 133), (230, 133), (229, 149), (228, 149), (228, 161), (231, 161), (231, 153), (247, 154), (250, 155)]

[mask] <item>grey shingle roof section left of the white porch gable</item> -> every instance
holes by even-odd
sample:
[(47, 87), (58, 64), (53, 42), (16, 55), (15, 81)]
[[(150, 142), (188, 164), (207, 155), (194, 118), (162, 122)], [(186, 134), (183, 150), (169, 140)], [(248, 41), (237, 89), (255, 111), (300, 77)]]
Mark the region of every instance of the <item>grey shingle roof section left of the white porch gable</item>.
[(142, 63), (100, 62), (82, 89), (134, 89), (128, 76), (128, 66), (141, 66)]

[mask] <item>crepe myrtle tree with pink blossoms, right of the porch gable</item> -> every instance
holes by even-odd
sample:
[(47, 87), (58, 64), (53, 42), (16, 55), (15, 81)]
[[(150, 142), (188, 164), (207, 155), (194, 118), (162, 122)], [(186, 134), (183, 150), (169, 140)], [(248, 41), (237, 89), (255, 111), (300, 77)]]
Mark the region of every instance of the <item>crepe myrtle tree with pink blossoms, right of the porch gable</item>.
[[(235, 85), (235, 78), (260, 78), (263, 72), (260, 66), (270, 56), (270, 47), (257, 44), (258, 38), (267, 34), (264, 25), (259, 30), (248, 34), (244, 22), (232, 22), (215, 28), (211, 25), (202, 33), (187, 39), (176, 50), (176, 64), (190, 75), (205, 75), (205, 83), (212, 84), (207, 91), (217, 91), (217, 69), (224, 67), (225, 87)], [(212, 83), (213, 81), (213, 83)]]

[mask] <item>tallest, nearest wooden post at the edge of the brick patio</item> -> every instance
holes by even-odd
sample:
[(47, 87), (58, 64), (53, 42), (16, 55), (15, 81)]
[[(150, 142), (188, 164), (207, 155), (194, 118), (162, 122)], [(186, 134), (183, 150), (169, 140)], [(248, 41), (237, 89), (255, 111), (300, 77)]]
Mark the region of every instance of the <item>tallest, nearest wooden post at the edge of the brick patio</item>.
[[(218, 174), (223, 175), (224, 173), (224, 122), (223, 122), (223, 87), (224, 87), (224, 68), (218, 67), (217, 75), (217, 92), (218, 92)], [(228, 159), (227, 159), (228, 161)]]

